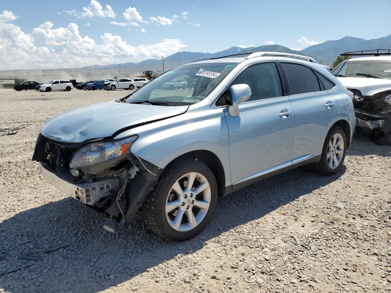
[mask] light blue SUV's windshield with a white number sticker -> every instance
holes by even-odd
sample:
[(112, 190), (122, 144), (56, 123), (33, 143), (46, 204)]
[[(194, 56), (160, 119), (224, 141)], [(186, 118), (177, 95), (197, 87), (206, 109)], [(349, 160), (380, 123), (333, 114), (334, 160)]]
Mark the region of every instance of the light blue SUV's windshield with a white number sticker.
[(151, 101), (165, 105), (195, 104), (206, 98), (237, 63), (179, 66), (159, 75), (135, 91), (127, 103)]

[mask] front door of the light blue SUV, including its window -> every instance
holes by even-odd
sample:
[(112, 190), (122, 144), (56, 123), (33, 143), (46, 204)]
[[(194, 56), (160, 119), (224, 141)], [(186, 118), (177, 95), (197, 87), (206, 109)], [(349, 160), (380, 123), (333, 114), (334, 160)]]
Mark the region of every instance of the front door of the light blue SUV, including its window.
[(294, 134), (292, 106), (275, 63), (246, 68), (234, 84), (248, 84), (251, 97), (239, 105), (239, 116), (225, 109), (233, 185), (289, 166)]

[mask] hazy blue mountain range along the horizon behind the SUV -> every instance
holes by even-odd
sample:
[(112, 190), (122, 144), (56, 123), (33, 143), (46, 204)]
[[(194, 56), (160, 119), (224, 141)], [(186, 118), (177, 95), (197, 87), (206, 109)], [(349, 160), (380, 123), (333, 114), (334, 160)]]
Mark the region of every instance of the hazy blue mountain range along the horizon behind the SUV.
[[(281, 45), (264, 45), (249, 48), (233, 46), (229, 49), (216, 53), (177, 52), (164, 58), (164, 67), (165, 70), (168, 70), (198, 58), (221, 57), (226, 55), (253, 53), (259, 51), (306, 55), (315, 58), (321, 64), (329, 65), (337, 58), (339, 54), (343, 52), (373, 49), (391, 49), (391, 34), (387, 37), (370, 40), (346, 36), (339, 40), (325, 41), (317, 45), (309, 46), (308, 48), (300, 51), (291, 50)], [(84, 66), (83, 68), (110, 69), (113, 67), (118, 67), (118, 64)], [(121, 68), (127, 71), (161, 70), (162, 61), (161, 59), (147, 59), (139, 63), (123, 63), (121, 64)]]

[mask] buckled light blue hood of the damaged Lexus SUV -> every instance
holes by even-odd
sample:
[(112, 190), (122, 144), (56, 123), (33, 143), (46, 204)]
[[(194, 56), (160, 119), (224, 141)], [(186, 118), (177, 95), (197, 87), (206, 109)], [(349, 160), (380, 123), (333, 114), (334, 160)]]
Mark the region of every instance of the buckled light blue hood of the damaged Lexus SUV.
[(43, 123), (39, 132), (55, 141), (81, 143), (109, 137), (124, 127), (183, 114), (187, 108), (104, 102), (58, 114)]

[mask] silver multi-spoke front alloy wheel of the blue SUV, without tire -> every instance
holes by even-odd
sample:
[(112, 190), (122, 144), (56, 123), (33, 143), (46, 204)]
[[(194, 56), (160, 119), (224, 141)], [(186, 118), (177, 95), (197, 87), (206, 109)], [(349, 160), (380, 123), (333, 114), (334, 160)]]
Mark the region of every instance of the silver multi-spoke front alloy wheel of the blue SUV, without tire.
[(165, 213), (169, 225), (177, 231), (189, 231), (205, 218), (211, 202), (208, 180), (190, 172), (174, 182), (167, 195)]

